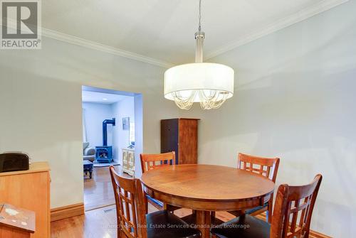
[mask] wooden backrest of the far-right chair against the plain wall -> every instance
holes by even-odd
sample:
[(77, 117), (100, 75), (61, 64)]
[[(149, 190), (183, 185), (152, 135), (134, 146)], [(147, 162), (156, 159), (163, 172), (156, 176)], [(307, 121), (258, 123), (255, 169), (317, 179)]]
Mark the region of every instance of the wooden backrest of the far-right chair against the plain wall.
[(264, 158), (239, 153), (237, 161), (237, 168), (251, 173), (256, 173), (276, 183), (279, 158)]

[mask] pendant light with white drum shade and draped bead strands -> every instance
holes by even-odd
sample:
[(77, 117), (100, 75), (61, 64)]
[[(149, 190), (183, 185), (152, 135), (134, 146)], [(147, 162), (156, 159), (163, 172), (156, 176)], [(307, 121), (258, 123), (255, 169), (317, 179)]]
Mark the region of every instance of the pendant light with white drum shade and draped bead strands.
[(194, 102), (199, 102), (202, 109), (216, 109), (234, 94), (234, 70), (226, 65), (203, 63), (204, 38), (199, 0), (195, 63), (177, 65), (164, 72), (164, 97), (174, 100), (180, 109), (189, 110)]

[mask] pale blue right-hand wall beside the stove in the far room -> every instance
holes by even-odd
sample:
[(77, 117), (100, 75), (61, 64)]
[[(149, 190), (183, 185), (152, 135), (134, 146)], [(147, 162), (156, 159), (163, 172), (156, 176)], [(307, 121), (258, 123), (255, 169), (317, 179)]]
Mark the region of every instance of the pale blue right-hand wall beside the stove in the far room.
[(113, 150), (114, 159), (122, 164), (122, 148), (127, 148), (130, 145), (130, 131), (122, 129), (122, 118), (130, 117), (130, 122), (135, 123), (135, 100), (134, 97), (125, 97), (120, 102), (111, 104), (113, 117), (116, 119), (114, 127)]

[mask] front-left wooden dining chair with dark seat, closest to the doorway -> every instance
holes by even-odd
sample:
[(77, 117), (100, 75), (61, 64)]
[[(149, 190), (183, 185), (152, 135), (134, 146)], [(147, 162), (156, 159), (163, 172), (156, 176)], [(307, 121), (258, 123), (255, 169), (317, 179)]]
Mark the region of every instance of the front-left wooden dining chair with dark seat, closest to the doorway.
[(193, 229), (167, 210), (147, 214), (141, 180), (125, 178), (110, 166), (112, 188), (115, 194), (117, 237), (122, 238), (195, 238), (199, 229)]

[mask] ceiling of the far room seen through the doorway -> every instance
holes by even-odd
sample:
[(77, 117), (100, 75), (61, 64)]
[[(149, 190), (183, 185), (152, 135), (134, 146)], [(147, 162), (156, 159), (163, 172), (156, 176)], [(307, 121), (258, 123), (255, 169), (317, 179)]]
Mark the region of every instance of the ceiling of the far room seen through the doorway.
[(120, 102), (129, 96), (110, 94), (103, 92), (82, 91), (82, 102), (95, 102), (101, 104), (112, 104)]

